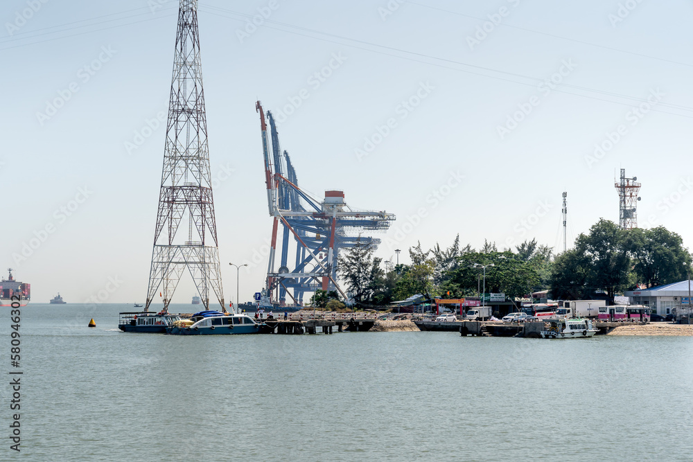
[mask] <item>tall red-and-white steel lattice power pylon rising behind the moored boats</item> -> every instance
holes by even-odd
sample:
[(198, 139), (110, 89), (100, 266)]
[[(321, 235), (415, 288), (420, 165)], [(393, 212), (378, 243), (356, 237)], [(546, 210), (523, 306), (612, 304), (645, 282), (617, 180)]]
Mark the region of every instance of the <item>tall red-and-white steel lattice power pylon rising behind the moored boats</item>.
[[(164, 168), (145, 311), (157, 292), (161, 293), (164, 310), (168, 311), (173, 292), (186, 269), (204, 306), (209, 309), (211, 287), (226, 311), (207, 148), (197, 6), (197, 0), (180, 0)], [(188, 229), (180, 226), (184, 218), (188, 219)], [(183, 228), (182, 233), (179, 228)], [(185, 237), (181, 236), (183, 233)]]

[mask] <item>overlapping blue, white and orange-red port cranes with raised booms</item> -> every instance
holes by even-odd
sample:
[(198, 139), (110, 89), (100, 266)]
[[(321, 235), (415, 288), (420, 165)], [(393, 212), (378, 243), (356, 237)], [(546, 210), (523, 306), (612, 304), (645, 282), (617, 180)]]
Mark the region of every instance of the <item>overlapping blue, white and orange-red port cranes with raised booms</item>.
[[(395, 216), (385, 211), (355, 211), (344, 202), (344, 192), (340, 190), (326, 190), (322, 200), (302, 190), (289, 153), (281, 151), (272, 112), (267, 111), (268, 134), (259, 101), (255, 108), (260, 113), (267, 206), (273, 218), (267, 294), (279, 305), (286, 305), (287, 295), (294, 305), (303, 305), (306, 293), (318, 289), (336, 290), (349, 299), (337, 283), (340, 249), (353, 247), (357, 242), (377, 247), (380, 239), (364, 233), (387, 230)], [(279, 268), (275, 269), (280, 224), (281, 254)], [(289, 251), (294, 246), (296, 258), (291, 269)]]

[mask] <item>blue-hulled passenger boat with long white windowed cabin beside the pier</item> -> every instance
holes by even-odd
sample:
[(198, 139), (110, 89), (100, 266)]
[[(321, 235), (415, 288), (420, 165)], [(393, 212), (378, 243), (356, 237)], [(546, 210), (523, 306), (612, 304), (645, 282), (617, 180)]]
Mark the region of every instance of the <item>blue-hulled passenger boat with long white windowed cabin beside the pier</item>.
[(201, 311), (190, 319), (175, 321), (166, 328), (173, 335), (231, 335), (258, 334), (261, 323), (247, 314), (230, 314), (218, 311)]

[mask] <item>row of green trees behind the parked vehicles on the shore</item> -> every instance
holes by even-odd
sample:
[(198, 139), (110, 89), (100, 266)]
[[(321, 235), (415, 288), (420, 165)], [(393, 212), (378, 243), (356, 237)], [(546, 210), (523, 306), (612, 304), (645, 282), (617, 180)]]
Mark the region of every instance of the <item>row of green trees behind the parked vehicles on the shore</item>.
[(590, 299), (596, 292), (613, 303), (624, 290), (681, 281), (691, 266), (681, 236), (664, 226), (624, 230), (604, 219), (581, 233), (574, 248), (555, 256), (536, 239), (502, 251), (484, 241), (476, 250), (461, 247), (459, 235), (447, 248), (436, 243), (424, 250), (417, 242), (409, 249), (410, 265), (384, 268), (375, 251), (358, 241), (340, 252), (340, 280), (360, 305), (387, 305), (415, 294), (475, 296), (482, 292), (484, 267), (486, 293), (505, 293), (510, 300), (549, 290), (553, 299)]

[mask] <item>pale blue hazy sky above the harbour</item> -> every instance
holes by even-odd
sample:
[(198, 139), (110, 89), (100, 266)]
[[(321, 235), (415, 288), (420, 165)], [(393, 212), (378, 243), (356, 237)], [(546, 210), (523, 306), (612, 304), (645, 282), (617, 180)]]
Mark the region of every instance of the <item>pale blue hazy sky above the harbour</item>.
[[(0, 7), (0, 262), (32, 299), (142, 303), (178, 3)], [(225, 298), (263, 287), (267, 213), (255, 101), (299, 184), (397, 220), (377, 255), (525, 239), (563, 249), (617, 222), (693, 242), (693, 3), (683, 0), (221, 1), (198, 18)], [(4, 270), (3, 270), (4, 271)], [(174, 302), (188, 303), (182, 282)]]

